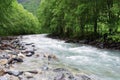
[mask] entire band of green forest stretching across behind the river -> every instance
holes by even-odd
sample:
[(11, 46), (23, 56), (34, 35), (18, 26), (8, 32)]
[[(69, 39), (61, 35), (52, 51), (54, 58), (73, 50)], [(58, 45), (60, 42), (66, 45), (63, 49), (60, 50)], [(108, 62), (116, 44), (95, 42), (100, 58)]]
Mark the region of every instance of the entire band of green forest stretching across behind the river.
[(18, 2), (0, 1), (1, 35), (50, 33), (64, 39), (120, 42), (120, 0)]

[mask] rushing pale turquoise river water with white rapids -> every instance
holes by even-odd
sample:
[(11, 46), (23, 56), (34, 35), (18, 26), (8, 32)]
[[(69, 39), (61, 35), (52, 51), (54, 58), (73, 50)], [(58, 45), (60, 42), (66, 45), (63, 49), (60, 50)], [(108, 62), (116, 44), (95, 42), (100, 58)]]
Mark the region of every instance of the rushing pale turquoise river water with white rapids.
[(45, 35), (23, 36), (22, 42), (34, 43), (37, 52), (57, 55), (58, 64), (65, 67), (90, 74), (99, 80), (120, 80), (120, 51), (65, 43)]

